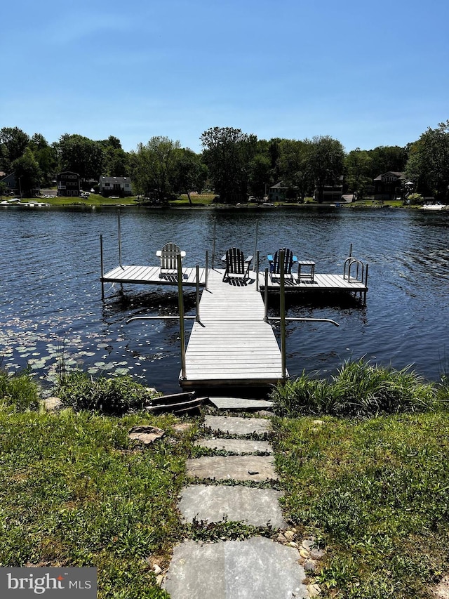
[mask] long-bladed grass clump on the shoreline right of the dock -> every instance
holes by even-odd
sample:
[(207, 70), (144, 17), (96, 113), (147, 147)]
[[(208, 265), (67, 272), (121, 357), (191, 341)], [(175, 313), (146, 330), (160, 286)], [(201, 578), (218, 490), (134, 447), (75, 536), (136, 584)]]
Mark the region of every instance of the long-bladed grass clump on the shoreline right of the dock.
[(330, 381), (309, 379), (303, 373), (276, 387), (272, 399), (278, 416), (377, 416), (436, 409), (447, 404), (448, 388), (446, 381), (438, 391), (410, 367), (395, 370), (361, 358), (344, 362)]

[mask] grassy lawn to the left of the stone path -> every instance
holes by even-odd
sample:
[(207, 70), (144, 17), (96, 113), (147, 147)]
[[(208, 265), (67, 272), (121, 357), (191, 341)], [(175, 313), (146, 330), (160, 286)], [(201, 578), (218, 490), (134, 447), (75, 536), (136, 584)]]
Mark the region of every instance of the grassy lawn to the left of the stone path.
[[(0, 565), (98, 567), (101, 598), (163, 598), (190, 433), (173, 416), (0, 412)], [(134, 424), (166, 430), (156, 445)], [(195, 430), (195, 429), (194, 429)], [(181, 532), (180, 532), (181, 531)]]

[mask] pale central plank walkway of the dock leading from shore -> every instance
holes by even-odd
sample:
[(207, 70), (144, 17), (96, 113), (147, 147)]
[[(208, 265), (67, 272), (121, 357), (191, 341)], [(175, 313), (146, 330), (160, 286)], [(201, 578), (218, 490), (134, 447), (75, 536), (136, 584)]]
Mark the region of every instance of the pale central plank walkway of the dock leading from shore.
[(210, 270), (186, 350), (184, 389), (268, 386), (282, 378), (281, 351), (255, 273), (246, 284), (222, 282), (224, 270)]

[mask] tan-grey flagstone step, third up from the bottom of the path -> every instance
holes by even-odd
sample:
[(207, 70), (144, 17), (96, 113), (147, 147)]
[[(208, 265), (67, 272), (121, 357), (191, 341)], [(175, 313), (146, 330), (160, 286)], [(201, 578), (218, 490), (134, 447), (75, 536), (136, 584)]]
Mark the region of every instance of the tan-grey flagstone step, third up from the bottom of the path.
[(271, 456), (206, 456), (187, 460), (187, 475), (212, 480), (279, 480)]

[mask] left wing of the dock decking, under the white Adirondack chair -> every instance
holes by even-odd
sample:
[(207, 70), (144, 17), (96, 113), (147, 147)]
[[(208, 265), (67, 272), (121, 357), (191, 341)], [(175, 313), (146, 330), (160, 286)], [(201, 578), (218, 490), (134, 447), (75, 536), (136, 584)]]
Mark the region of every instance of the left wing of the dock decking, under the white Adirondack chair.
[[(186, 287), (196, 286), (196, 268), (182, 267), (182, 284)], [(177, 273), (163, 272), (160, 266), (116, 266), (100, 277), (105, 283), (133, 283), (147, 285), (177, 285)], [(206, 269), (199, 269), (199, 284), (206, 284)]]

